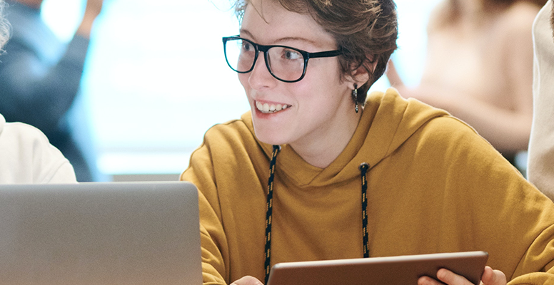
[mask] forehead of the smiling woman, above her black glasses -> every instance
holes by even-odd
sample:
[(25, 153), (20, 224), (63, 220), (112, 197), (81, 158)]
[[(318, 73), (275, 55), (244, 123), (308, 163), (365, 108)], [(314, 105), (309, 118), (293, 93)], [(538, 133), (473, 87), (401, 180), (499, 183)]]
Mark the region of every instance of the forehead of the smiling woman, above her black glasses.
[(241, 24), (243, 33), (262, 44), (306, 41), (328, 46), (335, 43), (333, 36), (311, 16), (288, 11), (274, 0), (248, 1)]

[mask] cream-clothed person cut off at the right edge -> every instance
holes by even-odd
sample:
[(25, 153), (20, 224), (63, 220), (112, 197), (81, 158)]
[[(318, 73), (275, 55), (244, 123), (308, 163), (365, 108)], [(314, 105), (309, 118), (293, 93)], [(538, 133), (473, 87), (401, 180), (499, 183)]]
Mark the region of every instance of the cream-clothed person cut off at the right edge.
[(554, 5), (540, 10), (533, 26), (533, 128), (529, 142), (528, 177), (554, 199)]

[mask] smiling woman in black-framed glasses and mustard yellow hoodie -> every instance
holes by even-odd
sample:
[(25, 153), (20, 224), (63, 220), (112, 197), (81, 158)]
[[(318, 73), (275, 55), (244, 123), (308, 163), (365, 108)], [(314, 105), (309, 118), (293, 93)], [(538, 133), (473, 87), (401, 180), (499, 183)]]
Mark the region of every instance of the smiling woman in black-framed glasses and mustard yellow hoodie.
[[(204, 284), (265, 283), (281, 261), (471, 250), (513, 284), (554, 281), (535, 272), (554, 260), (550, 199), (443, 110), (393, 89), (366, 101), (396, 48), (392, 0), (237, 13), (223, 43), (251, 112), (208, 130), (181, 175), (200, 190)], [(501, 271), (483, 282), (505, 284)]]

